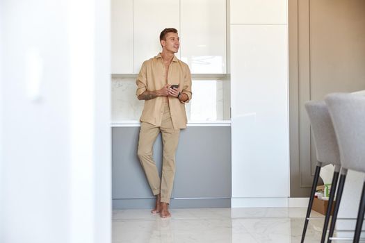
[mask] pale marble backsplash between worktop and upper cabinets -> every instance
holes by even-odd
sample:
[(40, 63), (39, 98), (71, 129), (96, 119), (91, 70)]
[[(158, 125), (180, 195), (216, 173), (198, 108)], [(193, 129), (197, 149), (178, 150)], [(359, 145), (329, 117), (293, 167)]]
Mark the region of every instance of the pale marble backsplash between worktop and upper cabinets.
[[(112, 77), (112, 121), (138, 121), (144, 101), (136, 97), (136, 78)], [(186, 104), (188, 121), (224, 121), (230, 117), (230, 83), (222, 78), (193, 79), (193, 99)]]

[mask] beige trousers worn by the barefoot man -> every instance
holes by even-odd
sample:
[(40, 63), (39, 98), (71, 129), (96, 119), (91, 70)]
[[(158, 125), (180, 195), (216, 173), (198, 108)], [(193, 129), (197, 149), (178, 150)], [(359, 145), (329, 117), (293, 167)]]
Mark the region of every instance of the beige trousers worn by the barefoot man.
[[(153, 146), (161, 132), (163, 142), (163, 159), (161, 179), (153, 158)], [(140, 124), (138, 141), (138, 158), (142, 164), (147, 181), (154, 195), (161, 194), (161, 202), (170, 203), (172, 186), (175, 178), (175, 152), (179, 143), (180, 129), (172, 126), (168, 102), (164, 105), (161, 126), (147, 122)]]

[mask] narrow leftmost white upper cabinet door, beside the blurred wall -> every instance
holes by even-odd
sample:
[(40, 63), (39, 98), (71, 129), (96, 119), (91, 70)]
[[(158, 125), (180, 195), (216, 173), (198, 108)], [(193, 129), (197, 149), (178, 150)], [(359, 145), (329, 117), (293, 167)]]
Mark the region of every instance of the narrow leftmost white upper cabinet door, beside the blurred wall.
[(133, 0), (111, 1), (111, 72), (133, 73)]

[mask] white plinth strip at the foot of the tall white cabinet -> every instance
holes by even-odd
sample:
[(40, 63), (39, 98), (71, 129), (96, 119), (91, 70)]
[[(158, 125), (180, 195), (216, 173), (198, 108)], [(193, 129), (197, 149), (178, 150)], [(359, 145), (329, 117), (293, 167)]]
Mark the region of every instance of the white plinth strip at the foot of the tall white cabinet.
[(286, 208), (287, 197), (236, 197), (232, 198), (232, 208)]

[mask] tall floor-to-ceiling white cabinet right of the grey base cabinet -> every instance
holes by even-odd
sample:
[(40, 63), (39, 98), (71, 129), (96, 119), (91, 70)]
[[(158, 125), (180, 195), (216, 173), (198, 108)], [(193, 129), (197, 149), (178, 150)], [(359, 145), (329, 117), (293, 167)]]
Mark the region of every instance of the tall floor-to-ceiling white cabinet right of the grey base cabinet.
[(288, 206), (286, 0), (231, 0), (232, 207)]

